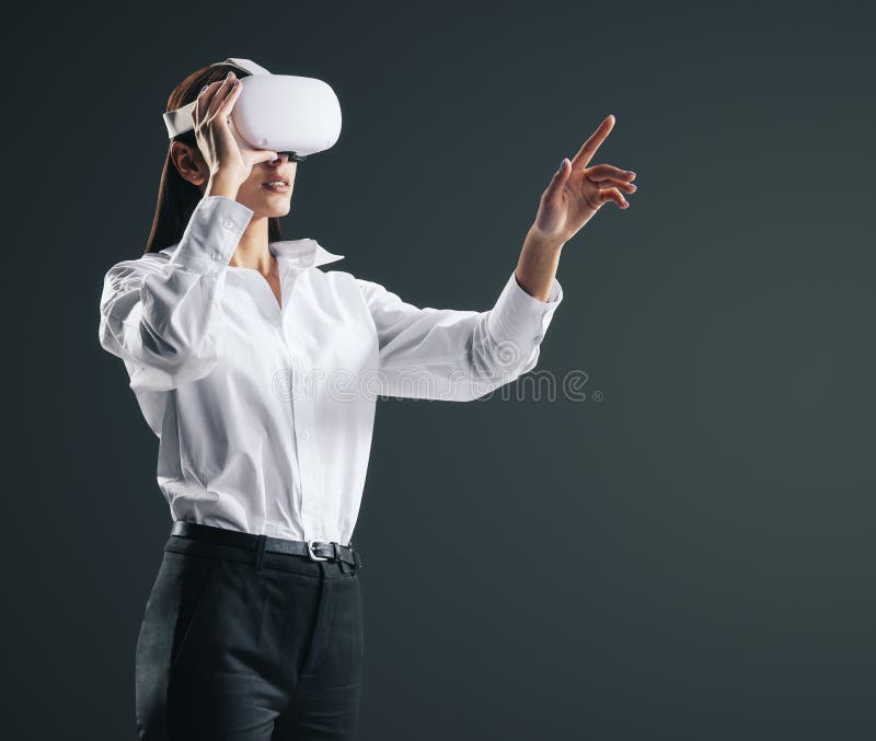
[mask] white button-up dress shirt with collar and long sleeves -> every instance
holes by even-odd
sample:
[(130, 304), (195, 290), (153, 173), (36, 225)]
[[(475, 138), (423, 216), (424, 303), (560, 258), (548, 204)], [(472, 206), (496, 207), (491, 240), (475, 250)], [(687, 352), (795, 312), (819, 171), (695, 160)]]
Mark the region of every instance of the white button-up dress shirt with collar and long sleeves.
[(350, 542), (378, 396), (470, 401), (531, 370), (563, 290), (511, 273), (489, 311), (417, 308), (312, 239), (272, 242), (264, 276), (229, 265), (253, 211), (223, 196), (181, 241), (106, 273), (101, 346), (125, 361), (159, 438), (173, 520)]

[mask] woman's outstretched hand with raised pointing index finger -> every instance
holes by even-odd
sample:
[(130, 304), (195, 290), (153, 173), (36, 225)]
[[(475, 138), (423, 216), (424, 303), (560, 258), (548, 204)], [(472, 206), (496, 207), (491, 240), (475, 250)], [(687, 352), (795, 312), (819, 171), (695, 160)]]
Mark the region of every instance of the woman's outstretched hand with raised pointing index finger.
[(569, 164), (564, 159), (551, 184), (541, 196), (539, 212), (530, 231), (549, 242), (565, 243), (578, 233), (593, 215), (610, 200), (619, 208), (630, 204), (621, 194), (635, 193), (632, 184), (636, 174), (610, 164), (587, 167), (596, 150), (614, 127), (614, 116), (608, 116), (593, 135), (581, 144)]

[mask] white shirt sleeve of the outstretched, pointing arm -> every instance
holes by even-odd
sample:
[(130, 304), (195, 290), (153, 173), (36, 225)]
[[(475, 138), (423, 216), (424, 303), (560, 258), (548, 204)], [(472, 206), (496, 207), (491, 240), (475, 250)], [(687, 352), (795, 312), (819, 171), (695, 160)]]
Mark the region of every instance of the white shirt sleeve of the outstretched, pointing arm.
[(489, 311), (418, 308), (383, 286), (356, 278), (379, 343), (378, 393), (468, 402), (532, 370), (563, 300), (554, 278), (548, 301), (511, 273)]

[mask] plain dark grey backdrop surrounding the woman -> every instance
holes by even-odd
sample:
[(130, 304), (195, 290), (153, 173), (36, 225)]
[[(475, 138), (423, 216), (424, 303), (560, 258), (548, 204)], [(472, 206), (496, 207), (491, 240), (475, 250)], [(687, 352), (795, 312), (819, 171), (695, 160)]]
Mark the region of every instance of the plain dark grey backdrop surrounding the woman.
[(8, 24), (10, 738), (136, 737), (170, 517), (97, 302), (142, 252), (168, 94), (228, 56), (333, 85), (344, 129), (299, 165), (286, 238), (419, 305), (492, 305), (606, 115), (593, 163), (638, 173), (560, 264), (539, 369), (584, 370), (586, 402), (378, 406), (359, 738), (875, 738), (876, 65), (851, 8), (140, 3)]

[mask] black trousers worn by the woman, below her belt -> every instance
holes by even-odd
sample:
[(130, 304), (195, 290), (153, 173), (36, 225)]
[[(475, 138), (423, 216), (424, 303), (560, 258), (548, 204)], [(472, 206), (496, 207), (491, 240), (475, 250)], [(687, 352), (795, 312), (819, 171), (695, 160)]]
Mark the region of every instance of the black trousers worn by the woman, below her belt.
[(140, 738), (354, 739), (357, 570), (171, 535), (137, 638)]

